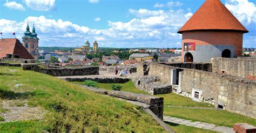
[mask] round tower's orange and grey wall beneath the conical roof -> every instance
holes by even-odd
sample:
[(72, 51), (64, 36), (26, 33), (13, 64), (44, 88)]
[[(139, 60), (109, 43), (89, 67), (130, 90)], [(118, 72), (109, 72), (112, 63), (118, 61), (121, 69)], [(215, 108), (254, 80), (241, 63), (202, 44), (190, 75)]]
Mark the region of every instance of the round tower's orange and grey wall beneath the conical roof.
[[(221, 57), (223, 50), (231, 51), (231, 57), (242, 55), (242, 32), (234, 31), (185, 31), (182, 40), (182, 60), (186, 53), (193, 55), (193, 62), (210, 62)], [(195, 43), (195, 50), (184, 51), (184, 43)]]

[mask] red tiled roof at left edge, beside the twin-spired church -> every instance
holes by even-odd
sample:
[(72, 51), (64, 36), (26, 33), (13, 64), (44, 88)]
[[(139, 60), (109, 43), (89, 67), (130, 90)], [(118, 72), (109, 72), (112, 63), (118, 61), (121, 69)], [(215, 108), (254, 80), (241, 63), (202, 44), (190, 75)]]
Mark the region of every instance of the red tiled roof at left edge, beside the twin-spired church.
[(19, 58), (34, 59), (18, 39), (0, 39), (0, 58), (6, 54), (19, 55)]

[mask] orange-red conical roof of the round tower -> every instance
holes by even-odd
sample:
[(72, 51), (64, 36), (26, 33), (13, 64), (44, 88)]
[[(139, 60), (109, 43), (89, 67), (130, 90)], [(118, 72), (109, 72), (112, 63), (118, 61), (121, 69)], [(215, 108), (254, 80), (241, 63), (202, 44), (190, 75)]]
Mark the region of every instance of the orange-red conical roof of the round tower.
[(206, 0), (178, 33), (194, 30), (233, 30), (248, 33), (219, 0)]

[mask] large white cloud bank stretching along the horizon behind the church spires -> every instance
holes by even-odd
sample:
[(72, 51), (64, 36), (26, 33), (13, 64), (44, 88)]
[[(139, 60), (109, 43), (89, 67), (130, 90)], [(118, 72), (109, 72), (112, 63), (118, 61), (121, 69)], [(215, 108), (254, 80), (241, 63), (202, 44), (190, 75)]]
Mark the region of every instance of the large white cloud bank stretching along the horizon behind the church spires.
[(12, 38), (11, 33), (16, 31), (17, 38), (21, 39), (26, 30), (26, 21), (35, 21), (39, 46), (75, 47), (86, 40), (97, 40), (99, 46), (105, 47), (176, 47), (176, 42), (181, 40), (177, 31), (188, 19), (184, 10), (130, 11), (137, 13), (135, 18), (126, 23), (109, 21), (107, 29), (91, 29), (71, 21), (39, 16), (20, 22), (0, 19), (0, 31), (4, 38)]

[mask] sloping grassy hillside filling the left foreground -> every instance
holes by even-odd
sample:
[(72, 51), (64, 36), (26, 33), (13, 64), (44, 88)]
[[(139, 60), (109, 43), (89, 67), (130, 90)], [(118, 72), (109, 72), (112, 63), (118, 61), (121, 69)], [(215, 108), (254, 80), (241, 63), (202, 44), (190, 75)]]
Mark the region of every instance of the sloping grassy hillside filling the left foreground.
[[(16, 88), (17, 83), (22, 86)], [(164, 132), (138, 106), (21, 68), (0, 67), (0, 99), (26, 100), (49, 110), (41, 122), (1, 123), (1, 132)]]

